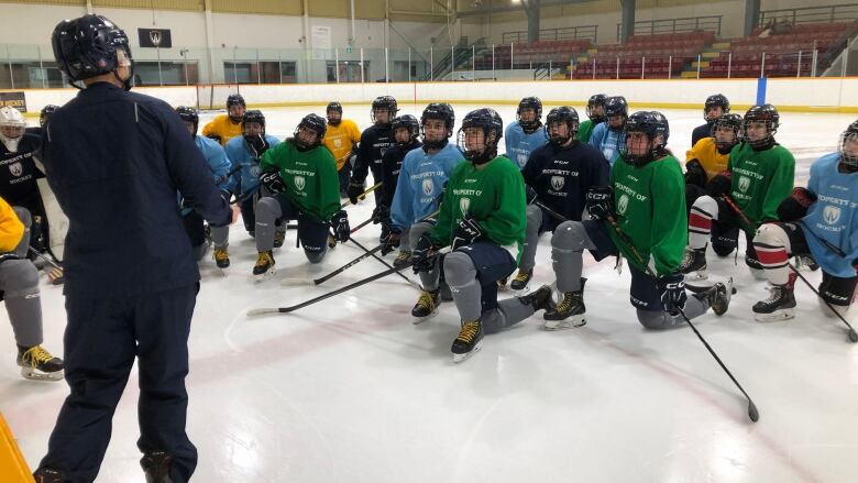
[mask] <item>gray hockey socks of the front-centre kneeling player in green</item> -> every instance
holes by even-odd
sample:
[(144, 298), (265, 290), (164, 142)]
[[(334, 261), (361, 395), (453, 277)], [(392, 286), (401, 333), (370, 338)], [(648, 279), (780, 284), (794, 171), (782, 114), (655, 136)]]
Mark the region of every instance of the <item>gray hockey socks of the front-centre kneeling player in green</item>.
[(482, 317), (486, 333), (498, 332), (534, 315), (534, 307), (522, 304), (518, 298), (498, 300), (497, 307), (483, 312), (483, 289), (476, 279), (476, 267), (471, 257), (462, 252), (451, 252), (444, 256), (444, 279), (453, 293), (460, 319), (464, 322)]

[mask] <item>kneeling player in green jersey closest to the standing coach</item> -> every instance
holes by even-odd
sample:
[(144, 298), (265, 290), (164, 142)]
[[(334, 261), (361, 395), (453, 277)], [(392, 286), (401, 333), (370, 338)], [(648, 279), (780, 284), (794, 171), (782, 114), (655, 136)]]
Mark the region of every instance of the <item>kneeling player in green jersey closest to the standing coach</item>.
[(274, 272), (274, 232), (290, 220), (298, 221), (298, 239), (310, 263), (328, 251), (328, 230), (337, 241), (349, 240), (349, 217), (340, 209), (340, 182), (333, 155), (321, 145), (324, 119), (308, 114), (293, 138), (260, 158), (260, 183), (270, 194), (256, 205), (256, 251), (253, 274), (262, 278)]

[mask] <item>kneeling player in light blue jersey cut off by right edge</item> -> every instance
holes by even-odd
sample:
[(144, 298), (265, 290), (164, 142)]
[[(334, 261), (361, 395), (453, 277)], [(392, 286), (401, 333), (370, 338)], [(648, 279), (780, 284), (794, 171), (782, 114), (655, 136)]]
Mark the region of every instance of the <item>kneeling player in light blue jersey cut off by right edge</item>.
[[(795, 188), (778, 208), (778, 223), (757, 230), (754, 246), (769, 281), (771, 296), (754, 305), (760, 321), (795, 317), (788, 256), (813, 255), (823, 271), (820, 306), (835, 317), (855, 300), (858, 283), (858, 121), (840, 135), (839, 152), (826, 154), (811, 165), (807, 188)], [(826, 304), (827, 301), (827, 304)]]

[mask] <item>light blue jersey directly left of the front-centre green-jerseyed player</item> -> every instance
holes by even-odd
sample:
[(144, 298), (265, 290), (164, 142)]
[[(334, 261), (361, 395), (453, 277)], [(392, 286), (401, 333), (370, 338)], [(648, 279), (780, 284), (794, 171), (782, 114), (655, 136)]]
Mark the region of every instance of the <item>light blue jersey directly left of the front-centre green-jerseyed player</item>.
[(431, 155), (422, 149), (409, 151), (403, 160), (391, 206), (393, 226), (407, 230), (437, 210), (444, 183), (453, 167), (462, 161), (462, 151), (453, 143)]

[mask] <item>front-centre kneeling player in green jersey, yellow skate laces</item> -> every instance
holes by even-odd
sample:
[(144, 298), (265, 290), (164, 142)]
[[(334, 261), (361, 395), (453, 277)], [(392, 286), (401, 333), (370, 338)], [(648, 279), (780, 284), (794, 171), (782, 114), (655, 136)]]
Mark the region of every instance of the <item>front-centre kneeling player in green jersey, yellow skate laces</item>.
[[(518, 167), (497, 155), (501, 116), (492, 109), (469, 112), (459, 130), (468, 163), (450, 175), (438, 222), (413, 248), (414, 270), (424, 289), (438, 288), (440, 270), (453, 293), (462, 329), (453, 340), (453, 361), (477, 351), (484, 333), (497, 332), (552, 307), (551, 289), (497, 301), (497, 281), (516, 267), (525, 240), (525, 185)], [(451, 245), (438, 260), (438, 250)], [(439, 270), (440, 267), (440, 270)]]

